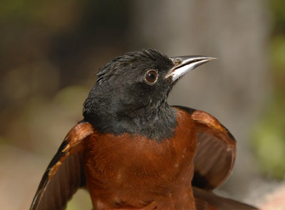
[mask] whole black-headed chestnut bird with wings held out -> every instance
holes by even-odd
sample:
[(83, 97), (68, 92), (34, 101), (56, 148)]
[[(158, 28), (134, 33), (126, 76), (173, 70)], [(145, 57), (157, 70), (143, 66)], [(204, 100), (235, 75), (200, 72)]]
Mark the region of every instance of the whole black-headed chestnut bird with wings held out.
[(145, 49), (104, 65), (43, 174), (31, 210), (65, 209), (85, 188), (95, 210), (257, 209), (212, 191), (231, 174), (234, 136), (202, 110), (169, 105), (177, 81), (207, 56)]

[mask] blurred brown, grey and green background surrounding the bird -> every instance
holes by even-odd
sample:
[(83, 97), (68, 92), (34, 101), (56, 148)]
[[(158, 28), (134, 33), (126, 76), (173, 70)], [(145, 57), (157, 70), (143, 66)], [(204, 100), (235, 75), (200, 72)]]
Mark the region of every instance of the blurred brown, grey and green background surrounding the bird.
[[(187, 74), (169, 98), (210, 112), (236, 137), (236, 166), (218, 194), (262, 206), (284, 187), (285, 1), (4, 0), (1, 209), (28, 209), (48, 162), (82, 119), (95, 73), (142, 48), (219, 58)], [(81, 190), (68, 209), (90, 206)]]

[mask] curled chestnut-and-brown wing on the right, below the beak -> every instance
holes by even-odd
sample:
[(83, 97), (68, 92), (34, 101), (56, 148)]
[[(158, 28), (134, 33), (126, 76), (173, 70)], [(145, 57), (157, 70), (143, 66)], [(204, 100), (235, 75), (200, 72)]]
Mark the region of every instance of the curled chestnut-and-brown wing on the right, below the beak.
[(212, 190), (226, 181), (234, 167), (237, 143), (234, 136), (207, 112), (175, 106), (187, 111), (195, 122), (198, 147), (192, 185)]

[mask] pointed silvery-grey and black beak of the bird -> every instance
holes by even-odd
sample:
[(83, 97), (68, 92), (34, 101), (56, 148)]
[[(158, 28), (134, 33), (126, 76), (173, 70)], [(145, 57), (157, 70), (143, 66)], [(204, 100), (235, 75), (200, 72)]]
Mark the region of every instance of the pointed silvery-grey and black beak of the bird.
[(216, 60), (217, 58), (211, 58), (206, 56), (180, 56), (170, 58), (174, 63), (174, 67), (170, 69), (169, 73), (165, 75), (165, 79), (172, 78), (172, 82), (180, 78), (188, 71), (196, 68), (208, 61)]

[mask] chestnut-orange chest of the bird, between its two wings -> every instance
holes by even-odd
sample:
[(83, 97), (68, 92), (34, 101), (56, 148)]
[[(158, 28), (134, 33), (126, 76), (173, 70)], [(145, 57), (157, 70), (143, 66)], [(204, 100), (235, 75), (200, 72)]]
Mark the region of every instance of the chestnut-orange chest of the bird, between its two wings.
[(175, 135), (160, 142), (127, 133), (90, 137), (85, 171), (93, 204), (140, 206), (152, 193), (167, 196), (177, 185), (189, 188), (197, 139), (191, 119), (178, 122)]

